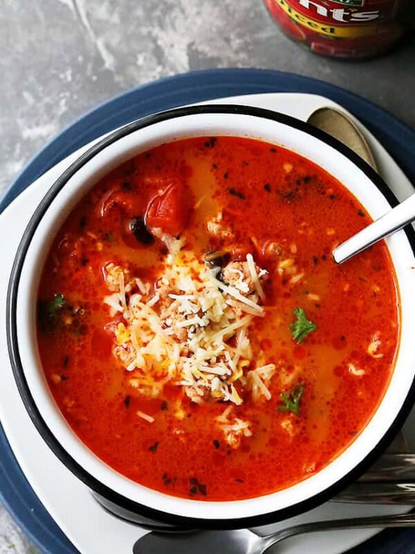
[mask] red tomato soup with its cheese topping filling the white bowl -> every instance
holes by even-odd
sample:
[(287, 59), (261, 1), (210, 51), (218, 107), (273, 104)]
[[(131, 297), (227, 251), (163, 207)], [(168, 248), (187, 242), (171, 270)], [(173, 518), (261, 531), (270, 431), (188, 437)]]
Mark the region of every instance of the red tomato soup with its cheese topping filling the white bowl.
[[(331, 258), (370, 221), (320, 167), (251, 139), (177, 141), (113, 170), (62, 225), (39, 285), (64, 418), (114, 470), (177, 497), (248, 499), (315, 474), (367, 425), (394, 367), (385, 244)], [(177, 298), (172, 271), (201, 292)], [(210, 294), (243, 332), (220, 334)], [(228, 354), (195, 366), (208, 347), (189, 345), (212, 325)]]

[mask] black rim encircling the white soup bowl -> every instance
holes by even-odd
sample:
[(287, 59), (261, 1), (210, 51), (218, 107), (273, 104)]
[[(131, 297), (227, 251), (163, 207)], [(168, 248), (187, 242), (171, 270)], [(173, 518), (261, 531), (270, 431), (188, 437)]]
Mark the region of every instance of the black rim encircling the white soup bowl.
[[(60, 190), (65, 186), (66, 182), (84, 166), (89, 160), (91, 160), (98, 152), (107, 148), (107, 146), (118, 141), (124, 136), (135, 132), (138, 129), (148, 127), (149, 125), (154, 125), (160, 121), (169, 120), (173, 118), (180, 118), (182, 116), (194, 115), (194, 114), (241, 114), (246, 116), (255, 116), (259, 118), (264, 118), (268, 120), (273, 120), (278, 123), (283, 123), (300, 131), (306, 132), (307, 134), (319, 139), (320, 141), (331, 146), (335, 150), (338, 150), (341, 154), (347, 157), (352, 161), (362, 172), (365, 173), (367, 177), (374, 183), (374, 185), (380, 190), (380, 192), (385, 196), (391, 206), (396, 206), (398, 200), (387, 187), (382, 178), (357, 154), (352, 150), (347, 148), (336, 139), (333, 139), (332, 136), (326, 134), (315, 127), (311, 127), (308, 123), (297, 120), (291, 116), (286, 116), (284, 114), (279, 114), (275, 111), (270, 111), (267, 109), (248, 107), (248, 106), (239, 106), (239, 105), (199, 105), (194, 107), (183, 107), (172, 109), (168, 111), (163, 111), (158, 114), (151, 116), (146, 116), (140, 120), (133, 121), (128, 125), (117, 129), (109, 136), (105, 137), (97, 144), (93, 145), (89, 150), (87, 150), (82, 156), (80, 156), (71, 166), (64, 171), (64, 173), (55, 181), (55, 184), (48, 190), (42, 201), (37, 206), (35, 213), (30, 218), (28, 225), (24, 231), (24, 235), (21, 238), (21, 242), (17, 249), (15, 260), (13, 262), (12, 271), (10, 274), (10, 280), (8, 284), (8, 294), (7, 294), (7, 304), (6, 304), (6, 329), (7, 329), (7, 342), (8, 342), (8, 352), (12, 365), (13, 375), (21, 395), (21, 399), (24, 402), (24, 406), (30, 415), (31, 420), (33, 421), (37, 431), (45, 440), (46, 444), (54, 452), (54, 454), (59, 458), (64, 465), (71, 470), (78, 479), (83, 481), (91, 490), (97, 492), (102, 497), (107, 498), (109, 501), (116, 503), (120, 508), (135, 512), (138, 515), (148, 517), (149, 519), (155, 519), (156, 521), (162, 521), (169, 525), (177, 525), (181, 527), (189, 528), (210, 528), (210, 529), (231, 529), (231, 528), (243, 528), (243, 527), (253, 527), (261, 526), (275, 521), (281, 521), (282, 519), (287, 519), (288, 517), (293, 517), (299, 515), (300, 513), (306, 512), (319, 506), (324, 501), (331, 499), (336, 493), (340, 490), (347, 487), (353, 481), (356, 481), (360, 475), (362, 475), (367, 468), (376, 461), (376, 459), (382, 454), (385, 448), (391, 443), (396, 433), (402, 427), (409, 411), (412, 408), (412, 405), (415, 401), (415, 379), (412, 382), (411, 387), (407, 393), (405, 401), (403, 402), (400, 410), (396, 414), (394, 422), (391, 424), (389, 429), (385, 432), (384, 436), (376, 445), (376, 447), (365, 456), (365, 458), (356, 465), (348, 474), (344, 475), (339, 481), (333, 483), (328, 488), (322, 490), (318, 494), (315, 494), (313, 497), (310, 497), (304, 501), (288, 506), (287, 508), (281, 508), (279, 510), (267, 512), (260, 515), (253, 515), (247, 517), (239, 518), (230, 518), (230, 519), (202, 519), (189, 516), (174, 515), (169, 512), (163, 512), (156, 510), (154, 508), (149, 508), (143, 504), (140, 504), (136, 501), (132, 501), (127, 497), (122, 496), (118, 492), (115, 492), (107, 485), (101, 483), (94, 476), (86, 472), (84, 468), (77, 463), (77, 461), (70, 455), (64, 447), (59, 443), (59, 440), (53, 435), (52, 431), (48, 428), (47, 423), (42, 418), (39, 409), (33, 399), (33, 396), (30, 393), (30, 389), (26, 382), (26, 377), (24, 375), (24, 368), (21, 364), (21, 358), (19, 354), (19, 343), (18, 343), (18, 332), (17, 332), (17, 317), (16, 317), (16, 307), (17, 307), (17, 295), (19, 292), (19, 282), (21, 277), (21, 270), (24, 266), (24, 260), (30, 242), (33, 238), (33, 235), (37, 229), (39, 222), (42, 220), (42, 217), (46, 213), (48, 207), (53, 202), (53, 199), (57, 196)], [(209, 133), (207, 133), (209, 135)], [(412, 251), (415, 253), (415, 232), (412, 229), (412, 226), (407, 226), (405, 229), (407, 239), (409, 244), (412, 247)], [(230, 503), (230, 510), (232, 510), (232, 503)], [(192, 503), (189, 503), (189, 512), (192, 512)]]

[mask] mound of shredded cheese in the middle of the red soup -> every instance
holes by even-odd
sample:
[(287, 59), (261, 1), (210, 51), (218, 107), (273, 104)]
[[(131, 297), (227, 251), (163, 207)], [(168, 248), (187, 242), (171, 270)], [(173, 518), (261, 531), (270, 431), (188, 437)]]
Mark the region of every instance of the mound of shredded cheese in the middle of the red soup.
[[(252, 254), (246, 261), (255, 284), (251, 294), (254, 287), (249, 289), (242, 272), (238, 288), (226, 285), (217, 268), (199, 262), (189, 251), (170, 252), (153, 292), (150, 283), (131, 280), (127, 269), (113, 263), (104, 268), (113, 292), (104, 302), (111, 317), (120, 314), (124, 319), (113, 325), (113, 355), (131, 372), (131, 386), (152, 397), (170, 382), (182, 386), (199, 404), (205, 400), (242, 404), (244, 387), (254, 400), (270, 399), (275, 364), (252, 368), (249, 338), (252, 321), (265, 316), (259, 304), (265, 298), (259, 278), (266, 271), (257, 271)], [(250, 434), (248, 425), (237, 418), (223, 425), (225, 434)]]

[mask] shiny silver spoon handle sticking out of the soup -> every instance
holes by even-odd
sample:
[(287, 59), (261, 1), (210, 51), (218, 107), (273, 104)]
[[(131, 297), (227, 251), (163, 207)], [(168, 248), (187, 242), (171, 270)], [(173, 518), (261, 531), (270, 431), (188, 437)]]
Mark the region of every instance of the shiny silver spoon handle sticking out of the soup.
[(402, 229), (413, 220), (415, 220), (415, 194), (336, 247), (333, 250), (334, 261), (342, 264), (378, 240)]

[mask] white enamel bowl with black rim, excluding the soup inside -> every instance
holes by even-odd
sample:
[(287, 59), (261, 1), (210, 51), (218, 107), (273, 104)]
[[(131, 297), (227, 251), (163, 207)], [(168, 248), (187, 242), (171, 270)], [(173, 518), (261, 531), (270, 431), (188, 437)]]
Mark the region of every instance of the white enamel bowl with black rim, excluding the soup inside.
[[(400, 294), (400, 346), (391, 381), (362, 433), (329, 465), (289, 488), (255, 499), (209, 502), (156, 492), (122, 476), (75, 435), (53, 400), (42, 371), (35, 332), (36, 291), (48, 248), (75, 204), (103, 175), (134, 155), (190, 136), (249, 136), (298, 152), (338, 179), (374, 219), (396, 199), (351, 150), (294, 118), (243, 106), (175, 109), (138, 120), (103, 139), (57, 179), (21, 240), (8, 290), (8, 348), (21, 397), (46, 443), (91, 490), (139, 515), (181, 526), (257, 526), (313, 508), (356, 479), (380, 455), (414, 402), (415, 233), (387, 239)], [(341, 214), (339, 214), (341, 217)]]

